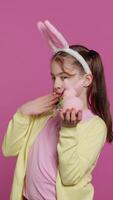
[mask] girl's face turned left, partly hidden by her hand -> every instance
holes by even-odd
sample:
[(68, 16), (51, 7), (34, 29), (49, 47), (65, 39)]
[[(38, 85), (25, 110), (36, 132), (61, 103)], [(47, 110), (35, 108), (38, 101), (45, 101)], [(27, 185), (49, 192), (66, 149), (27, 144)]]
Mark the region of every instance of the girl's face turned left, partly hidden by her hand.
[[(66, 69), (69, 68), (69, 70), (71, 71), (72, 65), (68, 59), (65, 59), (64, 65), (66, 66)], [(74, 87), (74, 85), (76, 85), (80, 79), (83, 79), (83, 75), (80, 75), (79, 70), (77, 69), (76, 66), (74, 66), (73, 74), (74, 75), (69, 75), (66, 72), (63, 72), (62, 68), (60, 67), (60, 64), (53, 60), (51, 64), (51, 78), (53, 80), (53, 92), (58, 94), (59, 93), (61, 94), (63, 92), (65, 79), (69, 81), (72, 87)], [(81, 93), (80, 90), (79, 93)], [(78, 94), (78, 96), (79, 95), (80, 94)]]

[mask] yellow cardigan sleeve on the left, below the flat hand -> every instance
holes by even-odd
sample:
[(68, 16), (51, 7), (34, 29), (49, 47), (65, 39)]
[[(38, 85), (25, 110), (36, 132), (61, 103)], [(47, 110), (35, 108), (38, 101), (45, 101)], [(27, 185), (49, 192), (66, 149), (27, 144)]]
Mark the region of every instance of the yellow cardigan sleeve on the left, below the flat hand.
[(23, 115), (17, 111), (8, 123), (8, 127), (2, 143), (2, 152), (6, 157), (16, 156), (27, 134), (31, 116)]

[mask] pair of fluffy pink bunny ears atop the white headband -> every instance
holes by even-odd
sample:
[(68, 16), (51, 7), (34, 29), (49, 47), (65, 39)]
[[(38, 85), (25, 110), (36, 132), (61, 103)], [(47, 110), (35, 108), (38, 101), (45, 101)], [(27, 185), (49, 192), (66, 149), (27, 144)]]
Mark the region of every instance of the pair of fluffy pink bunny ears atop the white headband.
[(68, 42), (63, 35), (48, 21), (37, 23), (38, 29), (44, 34), (54, 52), (60, 48), (69, 48)]

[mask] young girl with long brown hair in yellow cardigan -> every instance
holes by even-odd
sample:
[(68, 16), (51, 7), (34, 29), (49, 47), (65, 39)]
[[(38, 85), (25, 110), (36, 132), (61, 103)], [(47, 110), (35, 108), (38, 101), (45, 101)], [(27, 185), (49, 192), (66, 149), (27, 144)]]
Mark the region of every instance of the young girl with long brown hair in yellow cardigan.
[[(18, 156), (11, 200), (94, 197), (91, 173), (105, 141), (113, 141), (104, 69), (96, 51), (81, 45), (68, 49), (51, 59), (53, 93), (23, 104), (9, 122), (2, 150)], [(66, 81), (73, 88), (82, 83), (76, 88), (81, 108), (58, 105)]]

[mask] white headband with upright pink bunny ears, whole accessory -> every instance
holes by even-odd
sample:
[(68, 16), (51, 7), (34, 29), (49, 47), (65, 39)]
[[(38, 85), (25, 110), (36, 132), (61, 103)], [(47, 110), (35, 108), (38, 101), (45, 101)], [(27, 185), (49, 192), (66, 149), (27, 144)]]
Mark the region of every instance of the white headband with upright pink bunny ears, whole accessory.
[(54, 53), (63, 51), (72, 55), (82, 64), (87, 74), (92, 74), (84, 58), (77, 51), (69, 48), (69, 44), (64, 36), (48, 20), (45, 20), (44, 22), (39, 21), (37, 26), (48, 40), (49, 46), (52, 48)]

